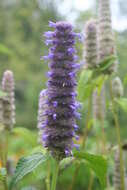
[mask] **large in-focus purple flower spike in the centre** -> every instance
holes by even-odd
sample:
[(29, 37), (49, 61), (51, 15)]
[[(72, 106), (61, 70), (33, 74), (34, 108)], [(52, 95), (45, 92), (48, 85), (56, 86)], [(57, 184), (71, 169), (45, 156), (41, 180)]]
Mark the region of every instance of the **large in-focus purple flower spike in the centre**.
[(72, 26), (67, 22), (49, 23), (53, 32), (46, 32), (46, 44), (50, 45), (49, 55), (44, 56), (50, 60), (47, 83), (47, 109), (46, 127), (43, 132), (44, 146), (57, 159), (72, 154), (75, 146), (73, 137), (77, 138), (75, 131), (79, 104), (76, 102), (76, 72), (79, 64), (76, 63), (75, 37)]

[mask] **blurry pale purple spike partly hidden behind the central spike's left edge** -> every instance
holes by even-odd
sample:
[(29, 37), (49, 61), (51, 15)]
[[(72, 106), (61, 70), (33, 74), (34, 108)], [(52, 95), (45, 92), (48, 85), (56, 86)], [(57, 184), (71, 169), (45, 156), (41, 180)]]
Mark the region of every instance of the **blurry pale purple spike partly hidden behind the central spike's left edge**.
[(46, 94), (46, 89), (42, 90), (39, 95), (39, 103), (38, 103), (38, 118), (37, 118), (37, 128), (39, 129), (39, 137), (38, 137), (38, 142), (42, 143), (42, 134), (43, 134), (43, 126), (46, 121), (46, 116), (45, 116), (45, 110), (47, 108), (46, 104), (46, 99), (47, 99), (47, 94)]

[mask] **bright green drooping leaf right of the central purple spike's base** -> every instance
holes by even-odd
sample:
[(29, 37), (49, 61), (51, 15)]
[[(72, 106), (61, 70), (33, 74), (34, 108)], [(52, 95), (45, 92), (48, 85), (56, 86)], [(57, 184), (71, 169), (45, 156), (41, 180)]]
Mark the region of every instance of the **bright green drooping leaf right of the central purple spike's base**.
[(90, 168), (96, 173), (104, 189), (106, 187), (107, 160), (103, 156), (86, 152), (75, 152), (74, 156), (87, 161)]

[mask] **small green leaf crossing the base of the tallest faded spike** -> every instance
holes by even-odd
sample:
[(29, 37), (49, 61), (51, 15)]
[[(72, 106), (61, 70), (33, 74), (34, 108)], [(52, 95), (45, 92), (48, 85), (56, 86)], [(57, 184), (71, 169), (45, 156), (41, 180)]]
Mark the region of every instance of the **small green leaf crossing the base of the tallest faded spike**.
[(117, 60), (117, 57), (115, 55), (108, 56), (99, 63), (99, 70), (100, 71), (106, 71), (111, 67), (111, 65), (114, 64), (114, 62)]

